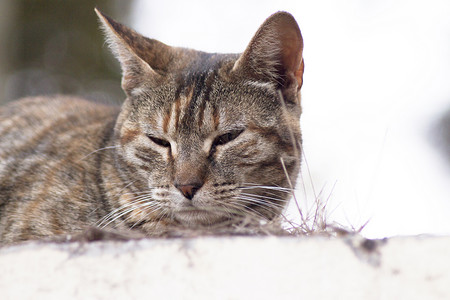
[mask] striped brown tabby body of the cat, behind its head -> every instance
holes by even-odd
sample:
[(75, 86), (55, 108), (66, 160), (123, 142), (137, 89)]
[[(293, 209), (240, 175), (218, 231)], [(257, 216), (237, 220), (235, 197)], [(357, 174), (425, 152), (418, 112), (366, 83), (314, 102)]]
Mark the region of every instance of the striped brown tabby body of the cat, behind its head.
[(2, 242), (76, 232), (108, 213), (99, 200), (109, 156), (89, 154), (110, 143), (118, 113), (68, 97), (28, 98), (0, 110)]

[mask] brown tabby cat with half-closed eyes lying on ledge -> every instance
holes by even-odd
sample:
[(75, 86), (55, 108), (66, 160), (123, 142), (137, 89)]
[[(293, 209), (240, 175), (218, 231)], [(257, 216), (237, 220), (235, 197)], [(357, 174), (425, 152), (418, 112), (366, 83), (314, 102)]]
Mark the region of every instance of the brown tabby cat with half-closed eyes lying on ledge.
[(152, 236), (279, 216), (301, 162), (293, 16), (270, 16), (242, 54), (211, 54), (96, 13), (126, 99), (42, 96), (0, 108), (0, 244), (90, 226)]

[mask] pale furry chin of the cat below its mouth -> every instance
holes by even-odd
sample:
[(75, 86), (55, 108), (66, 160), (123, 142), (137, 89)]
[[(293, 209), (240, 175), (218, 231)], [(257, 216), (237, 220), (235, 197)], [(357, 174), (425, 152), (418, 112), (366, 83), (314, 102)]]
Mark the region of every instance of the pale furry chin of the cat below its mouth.
[(179, 210), (174, 216), (178, 222), (186, 226), (212, 225), (227, 219), (223, 214), (202, 209)]

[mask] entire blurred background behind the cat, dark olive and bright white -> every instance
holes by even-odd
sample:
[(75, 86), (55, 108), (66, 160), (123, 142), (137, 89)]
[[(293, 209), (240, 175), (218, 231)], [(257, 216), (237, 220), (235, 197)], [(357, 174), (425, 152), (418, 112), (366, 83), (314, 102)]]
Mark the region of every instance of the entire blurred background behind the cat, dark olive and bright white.
[[(367, 237), (450, 234), (450, 2), (1, 0), (1, 102), (70, 93), (120, 103), (93, 8), (167, 44), (242, 52), (278, 10), (302, 30), (304, 210)], [(298, 219), (294, 204), (287, 214)]]

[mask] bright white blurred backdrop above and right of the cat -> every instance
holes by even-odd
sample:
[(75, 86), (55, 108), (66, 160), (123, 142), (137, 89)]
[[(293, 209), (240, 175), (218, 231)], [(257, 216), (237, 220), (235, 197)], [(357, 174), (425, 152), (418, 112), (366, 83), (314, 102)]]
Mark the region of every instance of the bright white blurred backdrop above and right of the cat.
[[(450, 234), (450, 2), (145, 1), (130, 24), (173, 46), (242, 52), (286, 10), (304, 38), (303, 185), (368, 237)], [(309, 170), (308, 170), (309, 169)], [(311, 186), (312, 183), (312, 186)], [(333, 188), (334, 186), (334, 188)], [(287, 212), (298, 218), (295, 205)]]

